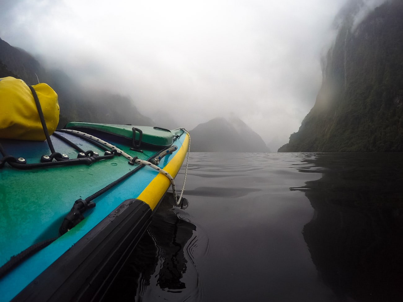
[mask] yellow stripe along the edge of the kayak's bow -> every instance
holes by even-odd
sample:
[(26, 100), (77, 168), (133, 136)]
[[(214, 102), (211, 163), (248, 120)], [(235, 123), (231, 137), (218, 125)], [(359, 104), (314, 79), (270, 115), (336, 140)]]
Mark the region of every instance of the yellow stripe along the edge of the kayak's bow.
[[(182, 147), (179, 148), (179, 150), (174, 155), (174, 157), (172, 157), (169, 163), (164, 168), (162, 168), (173, 178), (175, 178), (175, 176), (178, 174), (189, 148), (189, 135), (187, 133), (185, 134), (186, 137), (183, 141)], [(165, 194), (170, 184), (170, 180), (165, 175), (158, 173), (158, 175), (150, 182), (150, 184), (145, 187), (145, 189), (143, 190), (143, 192), (141, 192), (137, 199), (140, 199), (141, 201), (144, 201), (145, 203), (150, 205), (150, 208), (154, 211), (154, 208), (158, 205), (158, 202)]]

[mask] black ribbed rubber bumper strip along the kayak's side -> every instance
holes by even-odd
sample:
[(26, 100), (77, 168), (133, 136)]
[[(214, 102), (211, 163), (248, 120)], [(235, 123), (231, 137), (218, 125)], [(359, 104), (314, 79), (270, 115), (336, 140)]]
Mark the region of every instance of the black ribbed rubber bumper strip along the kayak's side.
[(12, 301), (102, 300), (151, 217), (152, 211), (143, 201), (124, 201)]

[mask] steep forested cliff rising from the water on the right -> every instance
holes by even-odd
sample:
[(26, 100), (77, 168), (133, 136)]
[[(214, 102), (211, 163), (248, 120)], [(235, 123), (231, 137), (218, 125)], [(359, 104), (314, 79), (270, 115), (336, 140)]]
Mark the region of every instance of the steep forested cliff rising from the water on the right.
[(356, 25), (358, 6), (343, 12), (316, 103), (279, 152), (403, 151), (403, 1)]

